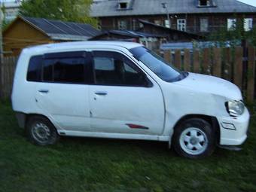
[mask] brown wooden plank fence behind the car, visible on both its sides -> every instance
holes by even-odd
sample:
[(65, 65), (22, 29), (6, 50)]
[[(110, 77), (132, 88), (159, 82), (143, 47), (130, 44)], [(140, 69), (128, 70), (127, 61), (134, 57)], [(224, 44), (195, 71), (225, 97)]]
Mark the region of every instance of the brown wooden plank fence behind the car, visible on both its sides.
[[(236, 84), (248, 102), (256, 95), (255, 47), (165, 50), (163, 57), (178, 69), (215, 75)], [(17, 57), (5, 57), (2, 64), (2, 96), (10, 97)]]

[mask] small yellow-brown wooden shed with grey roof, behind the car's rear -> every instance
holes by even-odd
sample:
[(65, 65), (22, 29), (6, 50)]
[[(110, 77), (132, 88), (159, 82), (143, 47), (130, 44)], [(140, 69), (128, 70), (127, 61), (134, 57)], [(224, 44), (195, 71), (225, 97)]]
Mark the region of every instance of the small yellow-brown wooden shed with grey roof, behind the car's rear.
[(17, 17), (3, 32), (5, 56), (18, 56), (24, 47), (62, 41), (87, 41), (99, 30), (84, 23)]

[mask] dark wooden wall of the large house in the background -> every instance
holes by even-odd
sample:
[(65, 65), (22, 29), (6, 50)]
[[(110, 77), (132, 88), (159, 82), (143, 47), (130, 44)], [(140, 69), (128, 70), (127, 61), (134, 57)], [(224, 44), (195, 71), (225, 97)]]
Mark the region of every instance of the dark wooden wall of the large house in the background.
[[(253, 18), (253, 24), (256, 26), (256, 13), (255, 14), (170, 14), (171, 26), (173, 29), (177, 29), (177, 20), (187, 20), (187, 32), (199, 33), (204, 35), (209, 32), (218, 31), (221, 28), (227, 28), (228, 18)], [(200, 19), (206, 18), (209, 20), (209, 32), (200, 31)], [(100, 17), (100, 24), (102, 29), (118, 29), (118, 23), (120, 20), (125, 20), (127, 23), (127, 29), (137, 30), (139, 29), (138, 19), (148, 20), (151, 23), (160, 22), (164, 24), (164, 20), (167, 20), (166, 15), (153, 15), (153, 16), (126, 16), (126, 17)]]

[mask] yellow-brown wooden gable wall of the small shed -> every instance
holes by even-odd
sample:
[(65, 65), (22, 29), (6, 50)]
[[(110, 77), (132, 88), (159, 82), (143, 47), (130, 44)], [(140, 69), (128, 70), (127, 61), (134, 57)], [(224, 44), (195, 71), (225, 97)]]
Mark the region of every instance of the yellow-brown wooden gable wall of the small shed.
[(53, 41), (20, 18), (14, 20), (3, 32), (3, 47), (5, 56), (18, 56), (24, 47), (47, 44)]

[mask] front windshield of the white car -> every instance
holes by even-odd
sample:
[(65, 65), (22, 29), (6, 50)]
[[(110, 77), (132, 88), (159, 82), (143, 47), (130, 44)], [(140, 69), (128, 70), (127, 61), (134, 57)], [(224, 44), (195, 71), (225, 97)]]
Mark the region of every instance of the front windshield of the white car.
[(180, 81), (188, 75), (175, 69), (174, 66), (166, 62), (162, 57), (145, 47), (136, 47), (130, 49), (130, 52), (163, 81)]

